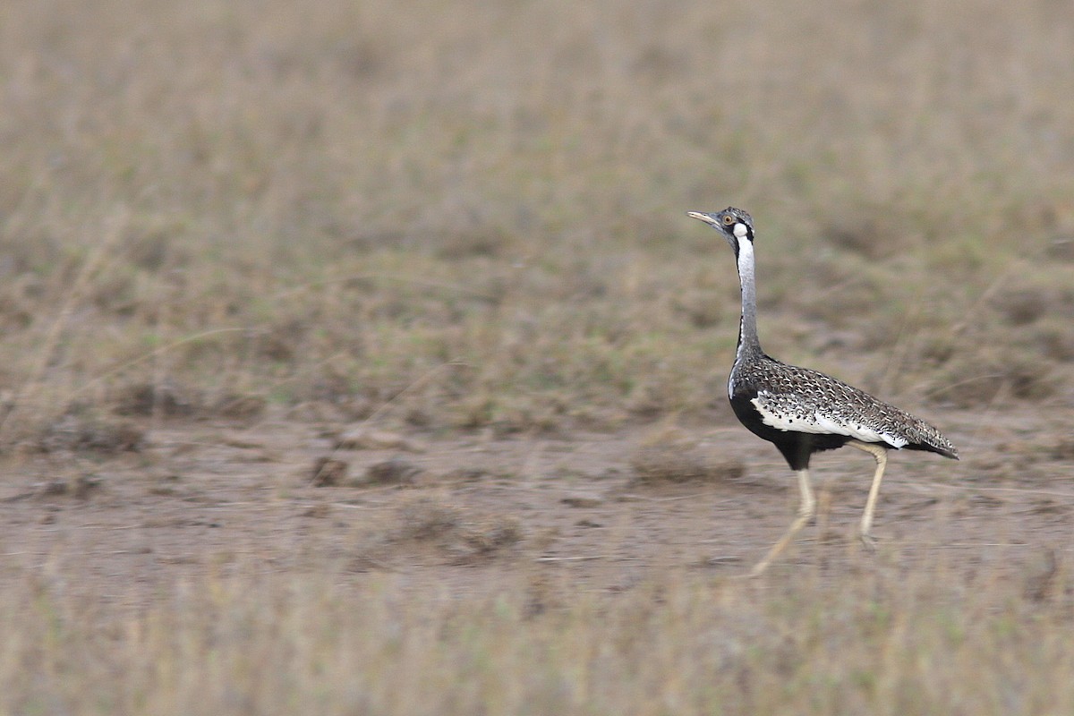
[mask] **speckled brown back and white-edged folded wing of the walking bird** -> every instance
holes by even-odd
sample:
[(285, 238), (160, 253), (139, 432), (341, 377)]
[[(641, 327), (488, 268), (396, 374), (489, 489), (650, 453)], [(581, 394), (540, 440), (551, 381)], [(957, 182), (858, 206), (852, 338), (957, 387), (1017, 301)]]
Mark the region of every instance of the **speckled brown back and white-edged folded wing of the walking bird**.
[(842, 436), (958, 458), (950, 440), (919, 418), (831, 376), (764, 353), (741, 355), (728, 389), (740, 418), (741, 406), (749, 401), (761, 423), (777, 430)]

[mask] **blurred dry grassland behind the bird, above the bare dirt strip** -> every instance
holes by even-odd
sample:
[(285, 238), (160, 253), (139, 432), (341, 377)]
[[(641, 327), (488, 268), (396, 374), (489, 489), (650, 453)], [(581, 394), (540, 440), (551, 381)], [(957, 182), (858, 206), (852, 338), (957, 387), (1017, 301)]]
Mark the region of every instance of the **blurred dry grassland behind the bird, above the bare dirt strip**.
[(2, 437), (719, 419), (728, 204), (774, 355), (1065, 409), (1071, 57), (1055, 0), (5, 2)]

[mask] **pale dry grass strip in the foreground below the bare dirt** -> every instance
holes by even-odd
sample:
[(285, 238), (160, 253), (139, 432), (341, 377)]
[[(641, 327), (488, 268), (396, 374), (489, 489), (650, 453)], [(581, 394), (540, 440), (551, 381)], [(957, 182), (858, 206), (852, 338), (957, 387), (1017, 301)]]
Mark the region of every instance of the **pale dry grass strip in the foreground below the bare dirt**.
[(250, 565), (131, 613), (110, 604), (121, 587), (73, 599), (77, 568), (56, 564), (4, 583), (0, 686), (11, 713), (1069, 713), (1074, 583), (1041, 570), (671, 571), (619, 597), (558, 587), (568, 605), (535, 611), (556, 587), (458, 599)]

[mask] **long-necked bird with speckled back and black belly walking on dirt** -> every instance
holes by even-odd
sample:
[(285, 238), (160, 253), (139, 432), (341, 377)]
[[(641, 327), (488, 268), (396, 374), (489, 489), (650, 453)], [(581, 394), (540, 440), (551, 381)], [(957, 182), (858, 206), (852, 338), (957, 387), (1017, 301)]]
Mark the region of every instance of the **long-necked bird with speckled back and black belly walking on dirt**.
[(761, 574), (816, 513), (810, 457), (843, 445), (862, 450), (876, 461), (859, 526), (862, 544), (874, 549), (873, 511), (888, 451), (921, 450), (958, 459), (958, 449), (939, 429), (909, 412), (823, 372), (788, 365), (765, 353), (757, 337), (753, 218), (734, 206), (714, 213), (687, 211), (686, 216), (719, 231), (735, 250), (742, 315), (735, 364), (727, 379), (731, 409), (750, 432), (775, 445), (798, 477), (798, 514), (750, 574)]

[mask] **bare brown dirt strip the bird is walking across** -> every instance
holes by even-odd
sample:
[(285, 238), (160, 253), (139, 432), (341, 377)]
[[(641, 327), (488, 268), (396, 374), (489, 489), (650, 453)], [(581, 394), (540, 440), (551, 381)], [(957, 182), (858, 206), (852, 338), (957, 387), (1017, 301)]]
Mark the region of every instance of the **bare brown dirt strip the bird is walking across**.
[[(1066, 426), (1028, 409), (930, 418), (962, 459), (891, 455), (874, 555), (854, 539), (872, 462), (843, 450), (814, 458), (819, 524), (773, 569), (939, 556), (1031, 584), (1069, 561)], [(771, 445), (729, 414), (713, 422), (674, 428), (723, 468), (682, 482), (638, 479), (639, 445), (659, 448), (666, 425), (513, 438), (285, 414), (139, 426), (131, 450), (5, 459), (0, 574), (63, 571), (71, 590), (132, 608), (184, 576), (236, 565), (301, 573), (325, 559), (355, 580), (391, 572), (449, 595), (519, 576), (620, 591), (667, 567), (742, 574), (782, 534), (797, 491)]]

